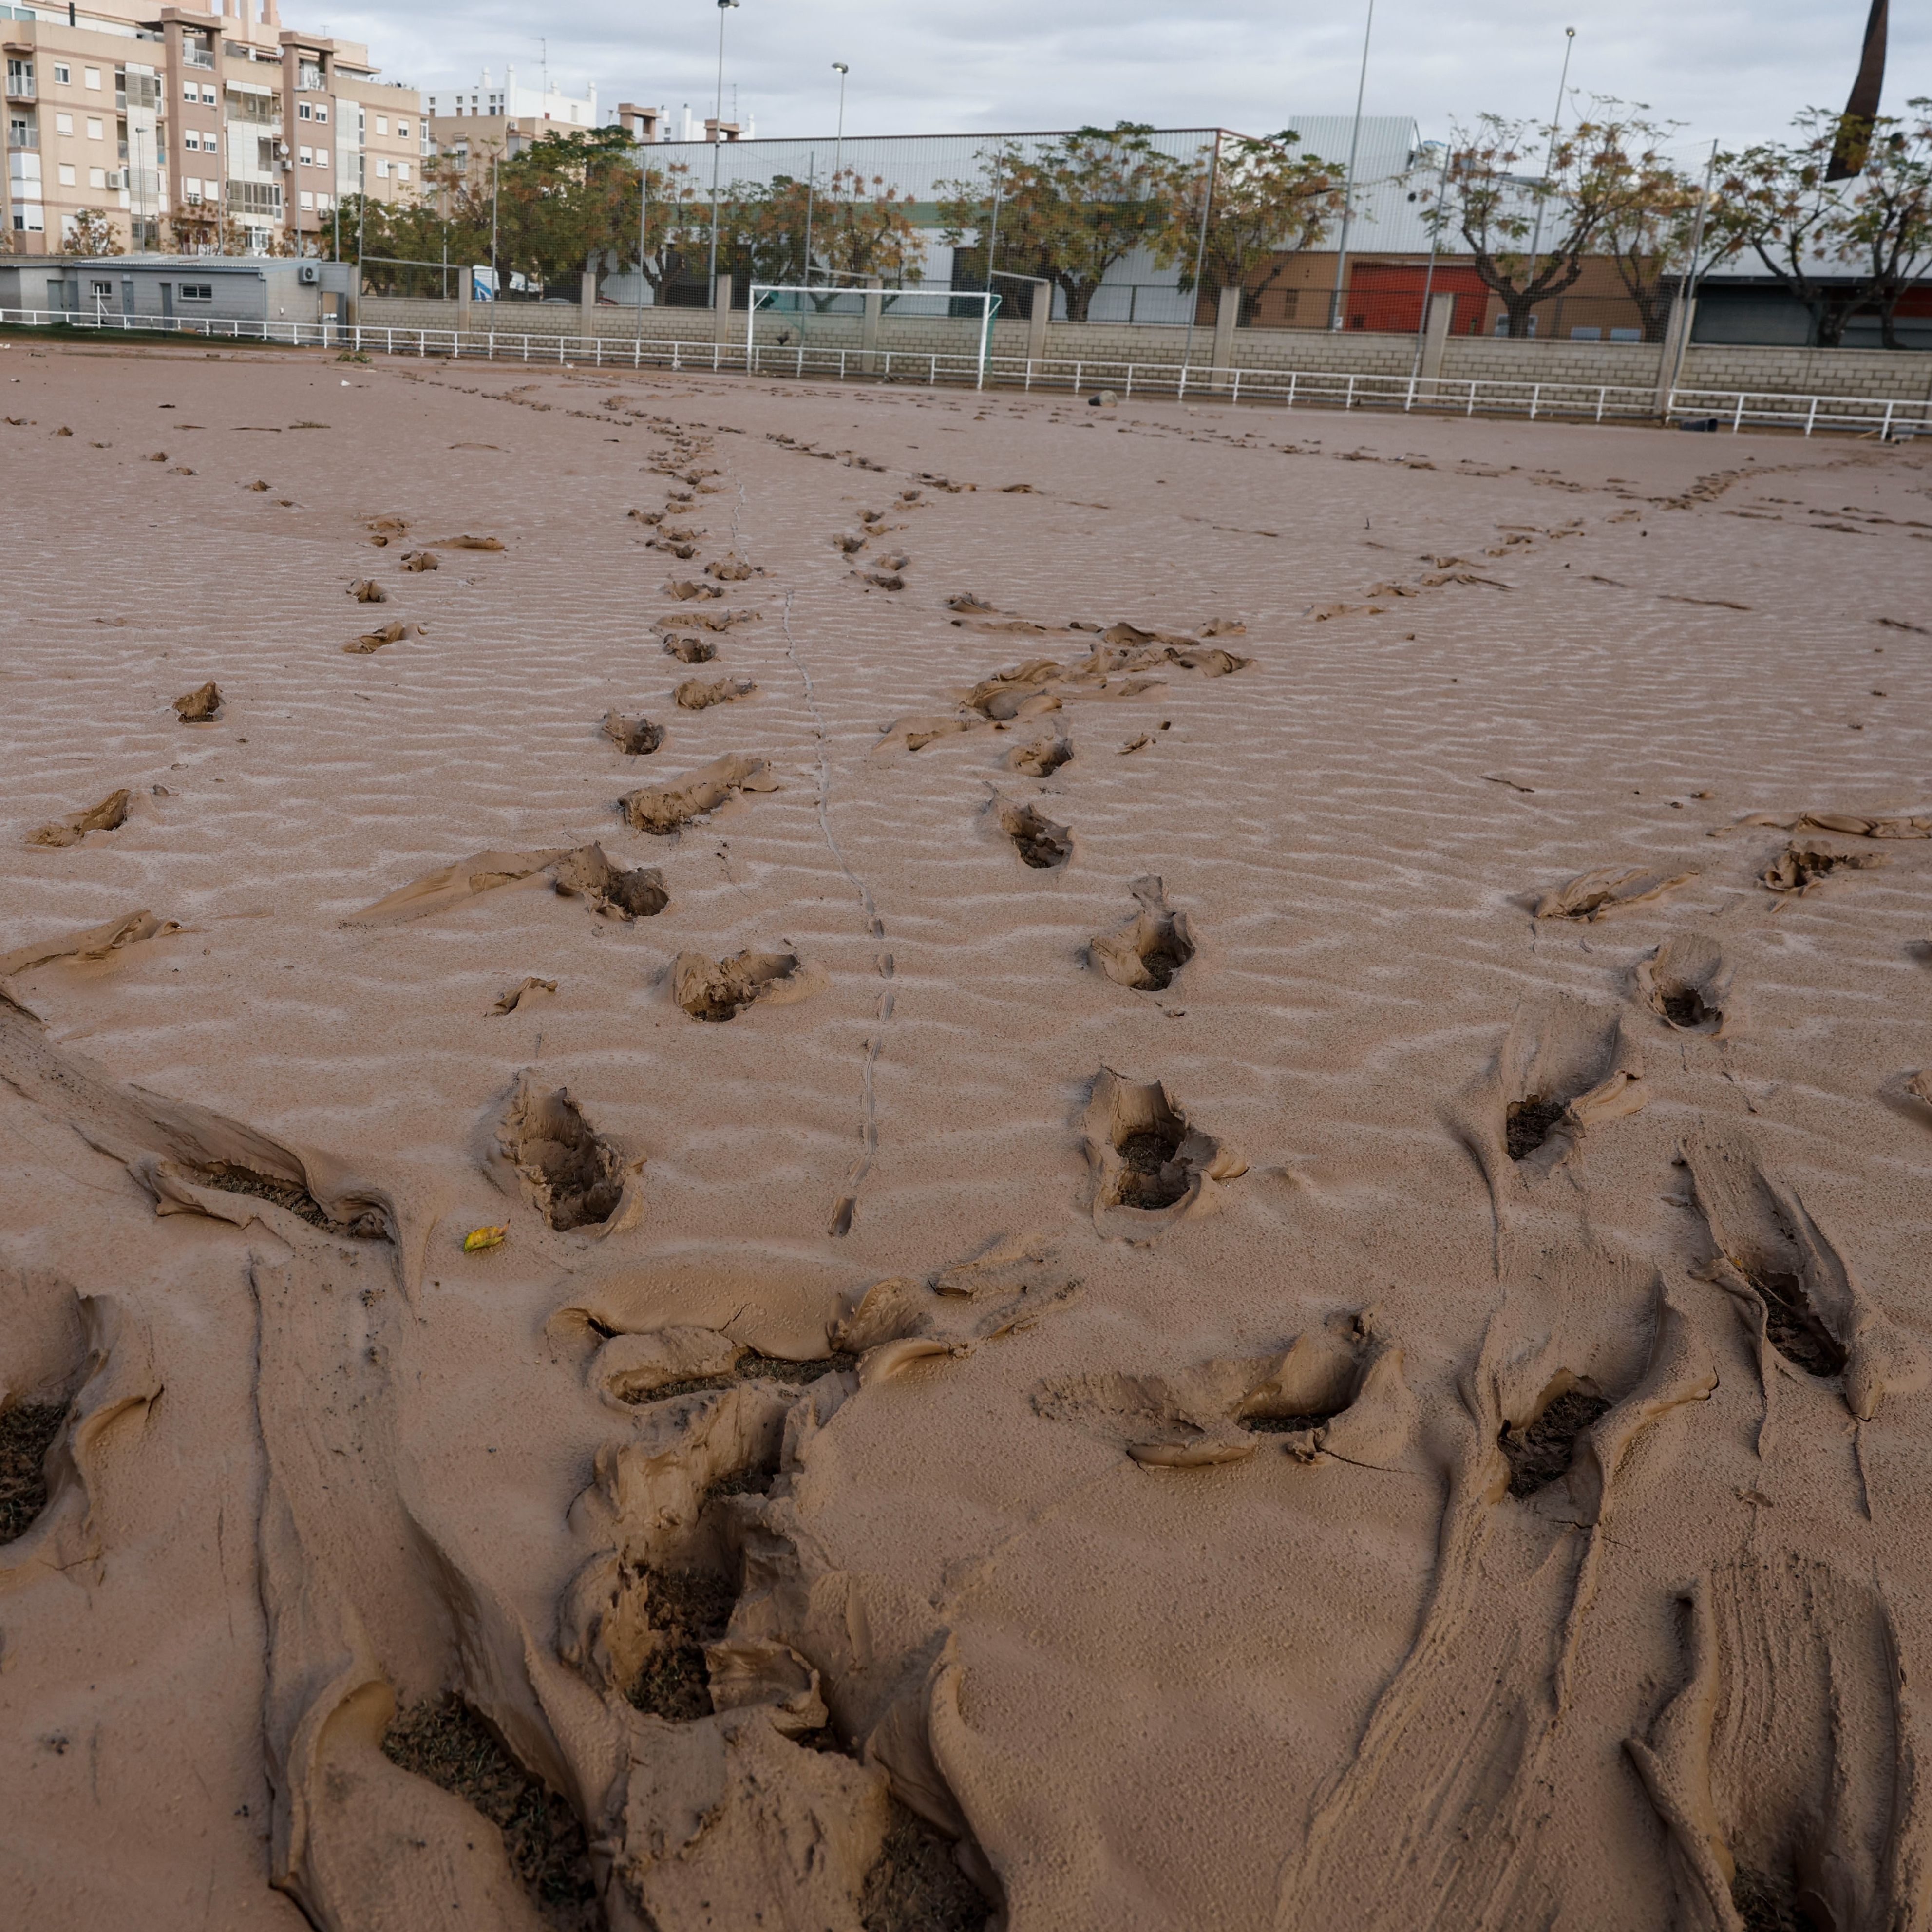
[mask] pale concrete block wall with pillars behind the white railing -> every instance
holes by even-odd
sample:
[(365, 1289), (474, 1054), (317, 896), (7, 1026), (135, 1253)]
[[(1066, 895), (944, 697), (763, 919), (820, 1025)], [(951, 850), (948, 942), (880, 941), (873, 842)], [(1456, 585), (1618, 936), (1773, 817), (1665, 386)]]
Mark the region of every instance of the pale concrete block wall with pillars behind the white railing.
[[(454, 301), (413, 301), (396, 296), (365, 296), (363, 323), (390, 328), (454, 328)], [(647, 342), (690, 342), (711, 346), (709, 309), (643, 309)], [(595, 334), (607, 342), (632, 342), (639, 311), (599, 307), (591, 311)], [(475, 303), (471, 328), (495, 327), (498, 334), (529, 334), (547, 344), (576, 342), (583, 332), (583, 311), (574, 303), (506, 301), (493, 309)], [(792, 317), (759, 323), (759, 342), (773, 344), (781, 328), (796, 330)], [(993, 354), (1026, 355), (1028, 325), (995, 323)], [(1047, 355), (1055, 361), (1090, 365), (1097, 379), (1107, 365), (1148, 363), (1173, 367), (1180, 361), (1188, 332), (1171, 327), (1128, 323), (1053, 323), (1047, 328)], [(794, 332), (796, 342), (796, 332)], [(860, 317), (827, 315), (810, 319), (813, 348), (860, 346)], [(732, 317), (730, 348), (744, 344), (744, 317)], [(879, 348), (895, 355), (970, 355), (970, 319), (893, 317), (879, 325)], [(554, 354), (554, 350), (551, 350)], [(1213, 354), (1213, 330), (1194, 330), (1192, 365), (1206, 367)], [(1662, 350), (1654, 342), (1513, 342), (1495, 336), (1451, 336), (1445, 344), (1445, 381), (1484, 383), (1575, 383), (1656, 388)], [(1235, 332), (1235, 365), (1240, 369), (1306, 369), (1337, 375), (1383, 375), (1406, 379), (1416, 365), (1414, 336), (1320, 328), (1240, 328)], [(1685, 355), (1685, 388), (1764, 390), (1797, 396), (1876, 396), (1918, 402), (1932, 396), (1932, 355), (1886, 350), (1806, 350), (1760, 348), (1747, 344), (1692, 344)]]

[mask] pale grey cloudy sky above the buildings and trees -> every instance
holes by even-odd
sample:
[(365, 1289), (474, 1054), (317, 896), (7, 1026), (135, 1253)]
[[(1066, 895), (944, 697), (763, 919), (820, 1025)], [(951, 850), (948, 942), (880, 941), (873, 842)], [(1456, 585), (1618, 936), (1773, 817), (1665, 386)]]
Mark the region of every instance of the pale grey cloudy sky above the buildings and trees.
[[(325, 0), (327, 6), (327, 0)], [(1868, 0), (1378, 0), (1370, 114), (1412, 114), (1426, 135), (1484, 108), (1548, 118), (1577, 27), (1571, 89), (1648, 102), (1683, 122), (1681, 145), (1777, 133), (1806, 104), (1841, 106)], [(284, 0), (294, 14), (294, 0)], [(1565, 8), (1571, 8), (1565, 12)], [(549, 33), (553, 83), (599, 102), (684, 102), (709, 112), (713, 0), (408, 0), (340, 14), (328, 31), (367, 41), (390, 79), (473, 85), (514, 64), (535, 81)], [(309, 15), (317, 17), (317, 15)], [(726, 112), (761, 135), (831, 131), (835, 60), (852, 68), (846, 128), (939, 133), (1144, 120), (1269, 131), (1296, 114), (1349, 112), (1364, 0), (742, 0), (726, 14)], [(1932, 10), (1893, 8), (1886, 106), (1932, 95)]]

